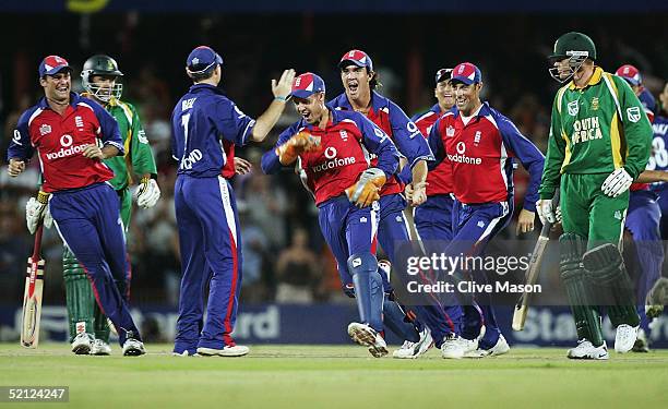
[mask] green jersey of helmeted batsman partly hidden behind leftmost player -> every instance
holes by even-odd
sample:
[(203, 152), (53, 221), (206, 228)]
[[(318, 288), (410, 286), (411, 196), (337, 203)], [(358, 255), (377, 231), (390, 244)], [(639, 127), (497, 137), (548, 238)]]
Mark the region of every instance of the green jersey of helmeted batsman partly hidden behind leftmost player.
[(157, 175), (155, 159), (136, 108), (114, 97), (105, 108), (118, 122), (126, 148), (124, 157), (115, 156), (105, 159), (105, 164), (114, 170), (114, 179), (109, 181), (114, 189), (126, 189), (133, 173), (140, 176), (148, 173), (155, 177)]

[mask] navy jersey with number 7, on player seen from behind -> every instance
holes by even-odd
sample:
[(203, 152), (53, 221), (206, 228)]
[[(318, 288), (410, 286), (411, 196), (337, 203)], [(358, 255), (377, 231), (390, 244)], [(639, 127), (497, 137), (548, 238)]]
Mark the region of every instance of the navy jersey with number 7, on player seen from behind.
[(235, 145), (244, 145), (255, 121), (220, 89), (195, 84), (171, 113), (171, 156), (178, 175), (210, 178), (235, 175)]

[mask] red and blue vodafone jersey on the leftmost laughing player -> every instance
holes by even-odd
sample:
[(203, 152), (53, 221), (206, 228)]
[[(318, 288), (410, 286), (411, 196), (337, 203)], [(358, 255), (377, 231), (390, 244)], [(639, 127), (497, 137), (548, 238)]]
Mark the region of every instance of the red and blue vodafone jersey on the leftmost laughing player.
[(8, 158), (27, 160), (37, 151), (45, 192), (85, 188), (114, 178), (103, 161), (82, 154), (84, 145), (98, 141), (123, 155), (118, 123), (105, 108), (71, 93), (70, 104), (60, 115), (41, 98), (19, 119)]

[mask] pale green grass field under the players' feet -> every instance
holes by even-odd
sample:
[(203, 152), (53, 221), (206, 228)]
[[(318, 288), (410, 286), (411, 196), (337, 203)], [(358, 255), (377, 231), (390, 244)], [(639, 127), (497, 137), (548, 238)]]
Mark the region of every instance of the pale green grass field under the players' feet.
[(668, 408), (666, 350), (582, 362), (562, 349), (457, 361), (431, 350), (404, 361), (356, 346), (253, 346), (244, 358), (178, 358), (170, 348), (76, 357), (64, 344), (0, 344), (0, 385), (67, 385), (69, 406), (90, 409)]

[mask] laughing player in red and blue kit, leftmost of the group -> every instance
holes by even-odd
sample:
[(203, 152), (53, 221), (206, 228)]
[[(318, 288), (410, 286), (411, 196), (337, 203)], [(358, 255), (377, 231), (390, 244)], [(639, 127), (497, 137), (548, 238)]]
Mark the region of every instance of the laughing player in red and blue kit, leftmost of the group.
[(71, 92), (71, 72), (58, 56), (39, 64), (45, 97), (19, 120), (8, 153), (9, 173), (21, 173), (37, 152), (44, 182), (38, 200), (26, 206), (28, 229), (35, 232), (50, 214), (85, 272), (100, 312), (116, 327), (123, 356), (140, 356), (144, 345), (117, 286), (128, 277), (126, 240), (118, 194), (109, 183), (114, 171), (105, 164), (123, 155), (123, 141), (114, 117)]

